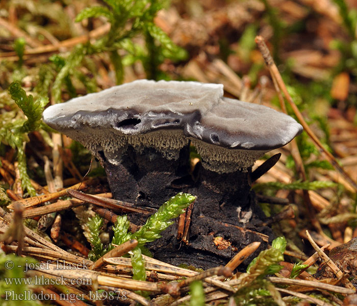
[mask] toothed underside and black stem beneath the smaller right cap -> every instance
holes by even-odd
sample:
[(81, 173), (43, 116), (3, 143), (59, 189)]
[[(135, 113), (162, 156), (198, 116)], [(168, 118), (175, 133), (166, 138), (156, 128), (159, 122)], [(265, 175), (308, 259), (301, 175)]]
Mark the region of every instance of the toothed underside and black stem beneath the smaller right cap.
[(200, 140), (192, 140), (192, 144), (202, 158), (194, 190), (197, 196), (194, 215), (214, 213), (217, 219), (232, 224), (251, 221), (256, 213), (261, 215), (254, 205), (251, 208), (255, 203), (250, 191), (251, 167), (265, 151), (228, 149)]

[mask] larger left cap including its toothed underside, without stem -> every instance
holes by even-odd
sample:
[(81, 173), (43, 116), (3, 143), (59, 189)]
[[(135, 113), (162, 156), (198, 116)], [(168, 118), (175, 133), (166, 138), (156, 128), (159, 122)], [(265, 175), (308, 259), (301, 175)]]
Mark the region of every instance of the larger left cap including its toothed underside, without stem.
[[(131, 144), (155, 147), (177, 159), (177, 149), (189, 141), (184, 126), (218, 104), (222, 95), (220, 84), (137, 80), (51, 106), (43, 120), (94, 155), (103, 150), (113, 156)], [(117, 163), (115, 159), (111, 161)]]

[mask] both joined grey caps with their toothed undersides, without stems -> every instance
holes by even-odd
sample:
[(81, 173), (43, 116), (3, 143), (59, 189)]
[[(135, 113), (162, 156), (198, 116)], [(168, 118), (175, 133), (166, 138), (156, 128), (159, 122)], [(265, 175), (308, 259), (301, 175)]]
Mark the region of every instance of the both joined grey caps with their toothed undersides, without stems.
[[(168, 158), (190, 138), (213, 171), (246, 169), (265, 152), (301, 133), (292, 117), (223, 97), (223, 85), (138, 80), (73, 98), (43, 112), (54, 129), (115, 153), (131, 144), (157, 148)], [(240, 161), (238, 161), (240, 160)]]

